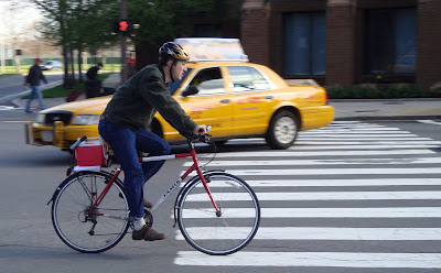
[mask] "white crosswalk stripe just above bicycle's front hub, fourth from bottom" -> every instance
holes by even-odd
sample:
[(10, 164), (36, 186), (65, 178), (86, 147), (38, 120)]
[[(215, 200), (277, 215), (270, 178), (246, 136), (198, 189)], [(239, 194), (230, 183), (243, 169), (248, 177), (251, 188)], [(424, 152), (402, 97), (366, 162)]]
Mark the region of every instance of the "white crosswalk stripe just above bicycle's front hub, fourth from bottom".
[[(216, 200), (216, 193), (212, 193)], [(256, 193), (260, 201), (269, 200), (439, 200), (440, 190), (415, 190), (415, 192), (299, 192), (299, 193)], [(190, 195), (189, 201), (206, 201), (207, 194)], [(222, 193), (223, 201), (248, 200), (248, 194)], [(440, 216), (441, 217), (441, 216)]]

